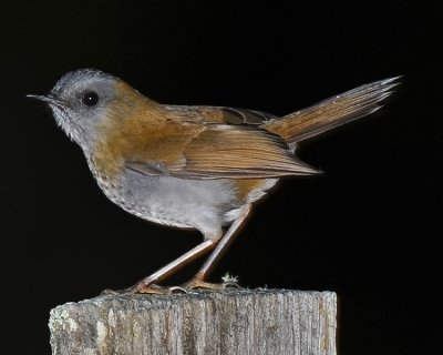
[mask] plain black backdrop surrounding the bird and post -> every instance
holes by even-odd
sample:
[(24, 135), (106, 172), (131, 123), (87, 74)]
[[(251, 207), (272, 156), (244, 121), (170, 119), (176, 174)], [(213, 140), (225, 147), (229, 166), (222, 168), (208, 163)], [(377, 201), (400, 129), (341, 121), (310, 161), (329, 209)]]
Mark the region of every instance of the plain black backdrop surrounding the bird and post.
[(109, 202), (49, 110), (24, 98), (84, 67), (164, 103), (280, 115), (404, 75), (379, 114), (301, 148), (326, 174), (258, 204), (213, 280), (337, 292), (340, 355), (441, 352), (442, 6), (310, 3), (3, 1), (3, 354), (49, 354), (50, 308), (128, 286), (200, 241)]

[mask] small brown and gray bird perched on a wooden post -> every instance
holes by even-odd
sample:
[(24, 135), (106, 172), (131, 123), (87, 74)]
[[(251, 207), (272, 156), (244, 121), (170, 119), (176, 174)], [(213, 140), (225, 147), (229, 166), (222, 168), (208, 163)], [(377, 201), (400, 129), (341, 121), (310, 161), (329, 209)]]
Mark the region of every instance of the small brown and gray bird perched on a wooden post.
[[(284, 116), (210, 105), (158, 103), (96, 69), (70, 71), (48, 94), (56, 123), (82, 149), (101, 190), (128, 213), (197, 230), (203, 241), (124, 290), (130, 293), (220, 290), (207, 281), (247, 222), (253, 204), (281, 179), (321, 170), (297, 156), (303, 141), (369, 115), (400, 77), (358, 87)], [(206, 255), (181, 286), (161, 282)]]

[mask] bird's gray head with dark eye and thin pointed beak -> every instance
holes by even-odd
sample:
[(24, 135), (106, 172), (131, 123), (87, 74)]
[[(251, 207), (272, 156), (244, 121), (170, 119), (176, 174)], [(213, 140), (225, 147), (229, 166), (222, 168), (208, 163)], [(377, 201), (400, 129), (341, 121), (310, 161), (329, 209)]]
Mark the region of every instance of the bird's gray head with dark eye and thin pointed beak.
[(47, 102), (58, 124), (87, 151), (119, 81), (100, 70), (80, 69), (64, 74), (48, 95), (28, 97)]

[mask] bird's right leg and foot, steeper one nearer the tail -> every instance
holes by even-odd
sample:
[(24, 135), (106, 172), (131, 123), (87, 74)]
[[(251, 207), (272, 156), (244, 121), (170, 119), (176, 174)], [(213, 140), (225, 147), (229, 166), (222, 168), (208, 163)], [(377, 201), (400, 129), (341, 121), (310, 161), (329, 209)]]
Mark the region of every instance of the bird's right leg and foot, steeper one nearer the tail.
[(244, 226), (244, 224), (247, 220), (247, 216), (249, 215), (249, 212), (250, 212), (250, 204), (247, 204), (246, 206), (243, 207), (237, 220), (235, 220), (233, 222), (230, 227), (226, 231), (226, 233), (219, 240), (219, 242), (217, 243), (217, 246), (215, 247), (213, 253), (209, 255), (209, 257), (206, 260), (206, 262), (203, 264), (200, 270), (194, 275), (194, 277), (192, 280), (189, 280), (187, 283), (182, 285), (183, 288), (193, 290), (193, 288), (224, 288), (225, 287), (224, 284), (207, 283), (207, 282), (205, 282), (205, 278), (210, 274), (210, 272), (214, 270), (217, 262), (222, 258), (222, 256), (228, 250), (229, 245), (234, 242), (235, 237), (238, 235), (237, 232), (239, 232), (240, 227)]

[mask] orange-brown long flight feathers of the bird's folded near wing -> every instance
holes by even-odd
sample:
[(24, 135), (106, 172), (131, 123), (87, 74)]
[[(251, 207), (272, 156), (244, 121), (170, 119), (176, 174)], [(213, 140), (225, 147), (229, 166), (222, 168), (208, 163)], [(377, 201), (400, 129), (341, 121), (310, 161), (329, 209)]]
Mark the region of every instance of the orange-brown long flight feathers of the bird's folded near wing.
[(315, 169), (297, 160), (279, 136), (231, 125), (210, 125), (184, 152), (186, 164), (176, 173), (213, 178), (307, 175)]

